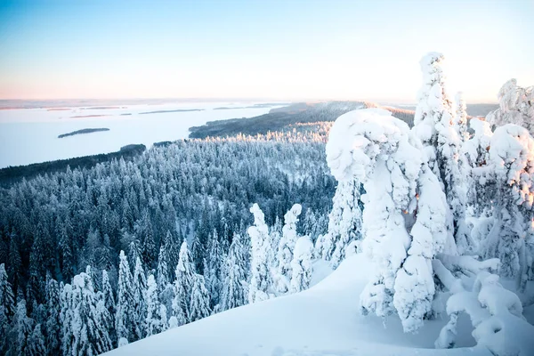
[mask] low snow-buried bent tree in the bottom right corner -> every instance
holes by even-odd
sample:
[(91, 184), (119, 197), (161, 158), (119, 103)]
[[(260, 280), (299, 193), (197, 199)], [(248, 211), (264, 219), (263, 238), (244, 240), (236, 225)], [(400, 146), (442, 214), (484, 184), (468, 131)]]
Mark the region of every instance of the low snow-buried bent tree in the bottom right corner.
[[(486, 347), (497, 356), (530, 355), (534, 348), (532, 327), (522, 316), (522, 303), (517, 295), (498, 283), (498, 259), (479, 262), (470, 256), (443, 258), (433, 261), (438, 279), (449, 290), (447, 301), (449, 322), (441, 329), (436, 348), (451, 348), (456, 344), (457, 320), (465, 312), (473, 324), (473, 337), (478, 346)], [(451, 264), (461, 266), (476, 276), (471, 287), (457, 279), (449, 270)]]

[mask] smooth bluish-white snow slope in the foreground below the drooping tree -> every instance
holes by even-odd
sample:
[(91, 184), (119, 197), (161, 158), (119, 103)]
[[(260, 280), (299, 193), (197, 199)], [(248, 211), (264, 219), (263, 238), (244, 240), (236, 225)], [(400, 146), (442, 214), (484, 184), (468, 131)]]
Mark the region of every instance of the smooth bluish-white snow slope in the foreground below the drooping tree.
[(361, 316), (360, 291), (370, 269), (363, 255), (352, 255), (315, 287), (295, 295), (222, 312), (118, 348), (130, 355), (490, 355), (473, 346), (469, 320), (459, 322), (458, 347), (435, 350), (433, 342), (447, 320), (427, 321), (417, 335), (404, 334), (391, 317), (384, 326)]

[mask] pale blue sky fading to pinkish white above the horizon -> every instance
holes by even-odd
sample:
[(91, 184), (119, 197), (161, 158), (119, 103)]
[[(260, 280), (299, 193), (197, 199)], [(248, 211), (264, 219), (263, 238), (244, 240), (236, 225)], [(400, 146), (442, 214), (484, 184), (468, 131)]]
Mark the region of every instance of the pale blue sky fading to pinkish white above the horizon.
[(534, 85), (532, 0), (0, 0), (0, 99), (415, 102), (420, 58), (449, 93)]

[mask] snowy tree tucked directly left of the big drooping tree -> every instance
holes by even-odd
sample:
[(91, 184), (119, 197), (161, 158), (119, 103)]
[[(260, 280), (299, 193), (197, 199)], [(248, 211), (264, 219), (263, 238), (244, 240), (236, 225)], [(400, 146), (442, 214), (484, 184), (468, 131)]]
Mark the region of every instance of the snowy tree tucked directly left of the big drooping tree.
[[(341, 123), (340, 123), (341, 124)], [(342, 129), (337, 127), (336, 130)], [(331, 131), (330, 131), (331, 132)], [(328, 140), (327, 162), (330, 162), (328, 152), (336, 152), (341, 142)], [(336, 176), (335, 176), (336, 177)], [(354, 179), (346, 181), (336, 177), (336, 194), (332, 199), (332, 211), (328, 214), (328, 233), (317, 239), (316, 249), (319, 255), (330, 261), (333, 268), (344, 260), (345, 248), (352, 242), (361, 239), (361, 206), (360, 182)]]

